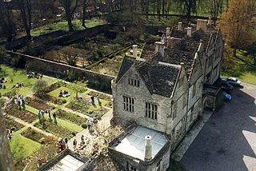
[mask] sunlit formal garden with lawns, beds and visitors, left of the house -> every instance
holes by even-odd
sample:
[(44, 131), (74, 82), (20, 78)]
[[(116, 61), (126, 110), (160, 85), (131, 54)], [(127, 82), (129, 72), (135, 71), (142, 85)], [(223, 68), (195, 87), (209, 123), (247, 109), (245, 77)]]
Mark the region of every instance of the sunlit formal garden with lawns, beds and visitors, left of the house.
[[(46, 156), (50, 160), (58, 153), (58, 138), (74, 137), (86, 128), (88, 117), (100, 120), (111, 107), (110, 95), (87, 88), (86, 82), (70, 83), (44, 75), (29, 78), (25, 70), (4, 65), (0, 67), (0, 78), (5, 80), (0, 89), (1, 104), (6, 127), (12, 130), (10, 149), (18, 170), (29, 163), (30, 168), (35, 168), (37, 162), (30, 161), (37, 157)], [(60, 92), (68, 92), (69, 96), (60, 96)], [(19, 98), (25, 105), (19, 103)], [(38, 110), (44, 113), (40, 120)], [(46, 113), (48, 110), (50, 115)]]

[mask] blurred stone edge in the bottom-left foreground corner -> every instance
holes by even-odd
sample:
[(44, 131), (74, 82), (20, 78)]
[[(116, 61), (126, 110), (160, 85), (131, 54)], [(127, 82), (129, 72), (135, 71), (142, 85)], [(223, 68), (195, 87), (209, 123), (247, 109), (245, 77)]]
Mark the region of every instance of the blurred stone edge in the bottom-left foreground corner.
[(14, 162), (10, 153), (10, 145), (6, 134), (5, 119), (2, 115), (0, 107), (0, 170), (12, 171), (14, 170)]

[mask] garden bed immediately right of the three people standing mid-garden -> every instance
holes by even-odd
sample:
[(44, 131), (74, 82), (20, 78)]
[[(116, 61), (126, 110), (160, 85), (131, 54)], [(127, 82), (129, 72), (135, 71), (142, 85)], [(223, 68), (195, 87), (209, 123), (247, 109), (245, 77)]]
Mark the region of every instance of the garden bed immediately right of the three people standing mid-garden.
[(57, 114), (57, 117), (62, 118), (64, 120), (71, 121), (76, 125), (82, 125), (82, 123), (86, 122), (86, 118), (80, 117), (74, 113), (68, 113), (64, 110), (58, 110), (56, 114)]

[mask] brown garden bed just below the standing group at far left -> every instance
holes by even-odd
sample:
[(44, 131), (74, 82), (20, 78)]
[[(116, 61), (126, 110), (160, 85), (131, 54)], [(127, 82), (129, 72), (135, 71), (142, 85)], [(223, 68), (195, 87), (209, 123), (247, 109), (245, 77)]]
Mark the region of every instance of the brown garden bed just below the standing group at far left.
[(24, 109), (18, 109), (18, 105), (10, 105), (6, 107), (5, 112), (14, 117), (18, 117), (19, 119), (22, 119), (23, 121), (26, 121), (28, 123), (31, 123), (38, 118), (34, 113), (31, 113)]

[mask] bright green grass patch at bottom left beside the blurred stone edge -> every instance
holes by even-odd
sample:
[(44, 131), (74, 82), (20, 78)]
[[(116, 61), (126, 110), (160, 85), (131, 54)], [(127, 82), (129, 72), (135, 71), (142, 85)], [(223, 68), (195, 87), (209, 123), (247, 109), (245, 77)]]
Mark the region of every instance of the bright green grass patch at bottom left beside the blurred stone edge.
[(20, 131), (14, 133), (14, 137), (10, 141), (10, 149), (15, 161), (22, 161), (40, 148), (41, 145), (38, 142), (23, 137)]

